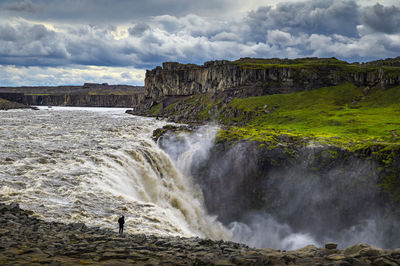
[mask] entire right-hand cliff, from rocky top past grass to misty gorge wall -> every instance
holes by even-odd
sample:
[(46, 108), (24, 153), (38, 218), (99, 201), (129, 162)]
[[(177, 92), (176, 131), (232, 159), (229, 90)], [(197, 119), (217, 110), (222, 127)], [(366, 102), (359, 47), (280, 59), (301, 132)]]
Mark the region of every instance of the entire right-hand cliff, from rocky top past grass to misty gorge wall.
[[(207, 156), (194, 155), (190, 170), (210, 213), (227, 226), (247, 226), (246, 243), (274, 238), (274, 230), (265, 233), (279, 231), (272, 216), (317, 241), (398, 247), (398, 62), (166, 63), (147, 72), (148, 114), (220, 125)], [(168, 152), (185, 138), (171, 133), (158, 143)]]

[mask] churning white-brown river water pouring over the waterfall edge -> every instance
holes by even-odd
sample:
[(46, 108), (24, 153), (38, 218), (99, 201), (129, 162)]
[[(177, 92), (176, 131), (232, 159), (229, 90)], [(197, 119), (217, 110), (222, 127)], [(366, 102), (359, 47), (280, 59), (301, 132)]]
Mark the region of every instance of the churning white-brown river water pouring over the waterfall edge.
[(230, 238), (185, 170), (207, 146), (172, 162), (151, 140), (163, 124), (117, 108), (1, 111), (0, 201), (50, 221), (116, 228), (125, 215), (130, 233)]

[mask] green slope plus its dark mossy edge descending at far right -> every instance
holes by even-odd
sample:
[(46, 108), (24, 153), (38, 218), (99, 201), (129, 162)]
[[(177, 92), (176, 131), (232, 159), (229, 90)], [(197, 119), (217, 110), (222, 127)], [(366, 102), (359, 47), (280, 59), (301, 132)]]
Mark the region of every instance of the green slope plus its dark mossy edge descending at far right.
[(237, 125), (221, 130), (218, 141), (257, 141), (260, 148), (281, 146), (286, 153), (293, 152), (296, 145), (324, 145), (333, 159), (349, 151), (376, 161), (379, 186), (400, 201), (399, 103), (400, 87), (366, 89), (350, 83), (233, 99), (219, 119), (226, 125)]

